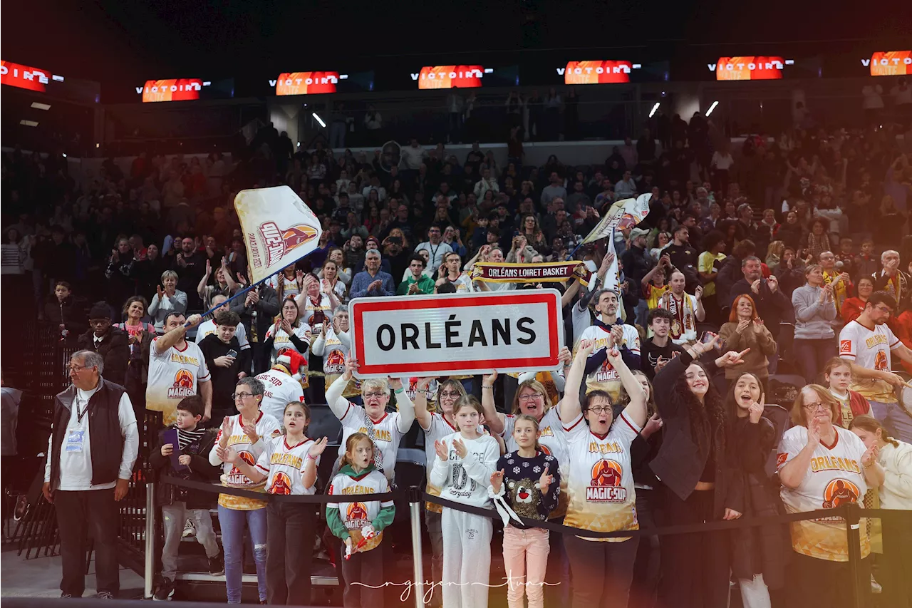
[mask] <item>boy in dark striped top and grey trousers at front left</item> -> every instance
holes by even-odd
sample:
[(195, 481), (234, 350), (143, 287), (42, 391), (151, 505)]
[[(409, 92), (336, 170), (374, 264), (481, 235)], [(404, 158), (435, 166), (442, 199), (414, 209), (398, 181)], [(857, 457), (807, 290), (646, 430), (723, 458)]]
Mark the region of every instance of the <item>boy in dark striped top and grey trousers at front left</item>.
[[(150, 450), (149, 463), (159, 475), (201, 482), (219, 477), (218, 467), (209, 464), (209, 451), (215, 443), (218, 429), (204, 429), (200, 426), (204, 409), (198, 395), (185, 397), (177, 404), (177, 422), (170, 428), (159, 431), (158, 442)], [(177, 430), (177, 446), (166, 439), (166, 434), (173, 429)], [(175, 469), (171, 460), (175, 455), (178, 456), (178, 469)], [(153, 599), (170, 600), (174, 594), (177, 553), (185, 521), (189, 519), (196, 528), (196, 538), (205, 547), (206, 557), (209, 558), (210, 573), (216, 576), (222, 574), (224, 561), (212, 529), (212, 516), (209, 514), (213, 502), (210, 497), (215, 494), (170, 484), (160, 484), (160, 487), (156, 502), (161, 507), (165, 544), (161, 549), (161, 577)]]

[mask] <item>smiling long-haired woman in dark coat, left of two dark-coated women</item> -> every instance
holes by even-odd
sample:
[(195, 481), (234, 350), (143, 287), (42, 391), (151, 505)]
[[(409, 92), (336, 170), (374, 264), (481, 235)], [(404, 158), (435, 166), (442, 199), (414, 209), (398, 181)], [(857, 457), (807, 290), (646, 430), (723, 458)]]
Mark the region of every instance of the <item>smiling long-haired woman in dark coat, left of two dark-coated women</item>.
[[(653, 381), (664, 436), (649, 468), (665, 487), (670, 526), (738, 519), (744, 511), (744, 484), (732, 456), (731, 425), (722, 397), (710, 383), (710, 372), (699, 362), (717, 340), (686, 346)], [(729, 351), (713, 368), (743, 363), (743, 354)], [(731, 570), (728, 533), (672, 534), (662, 542), (658, 605), (725, 608)]]

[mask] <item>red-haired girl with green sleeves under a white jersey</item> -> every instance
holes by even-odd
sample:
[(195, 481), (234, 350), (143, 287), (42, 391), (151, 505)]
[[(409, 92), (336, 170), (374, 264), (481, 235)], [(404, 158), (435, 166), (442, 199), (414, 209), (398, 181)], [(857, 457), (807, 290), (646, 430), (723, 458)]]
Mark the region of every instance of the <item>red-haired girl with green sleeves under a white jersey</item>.
[[(387, 477), (371, 464), (374, 443), (366, 433), (354, 433), (346, 441), (341, 468), (326, 494), (346, 496), (389, 492)], [(383, 529), (396, 515), (392, 500), (326, 503), (326, 523), (333, 535), (343, 541), (340, 555), (345, 591), (345, 608), (377, 606), (383, 608)]]

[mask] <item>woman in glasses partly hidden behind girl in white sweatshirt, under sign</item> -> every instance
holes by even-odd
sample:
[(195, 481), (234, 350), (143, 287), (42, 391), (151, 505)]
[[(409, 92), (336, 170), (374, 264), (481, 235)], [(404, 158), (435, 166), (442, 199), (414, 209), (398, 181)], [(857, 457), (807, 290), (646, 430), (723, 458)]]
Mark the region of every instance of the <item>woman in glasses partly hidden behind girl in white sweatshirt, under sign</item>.
[[(434, 443), (447, 435), (459, 431), (456, 419), (453, 417), (453, 405), (466, 396), (462, 383), (455, 378), (450, 378), (440, 383), (437, 389), (437, 400), (433, 411), (428, 410), (427, 389), (433, 378), (419, 378), (415, 385), (415, 419), (421, 430), (424, 431), (424, 455), (427, 465), (425, 471), (428, 477), (427, 492), (431, 496), (440, 496), (440, 487), (430, 483), (430, 471), (437, 460), (437, 450)], [(430, 549), (433, 556), (430, 559), (430, 569), (434, 581), (443, 580), (443, 532), (440, 528), (440, 519), (443, 508), (432, 502), (424, 503), (424, 521), (430, 535)], [(440, 586), (435, 586), (431, 604), (440, 605)]]

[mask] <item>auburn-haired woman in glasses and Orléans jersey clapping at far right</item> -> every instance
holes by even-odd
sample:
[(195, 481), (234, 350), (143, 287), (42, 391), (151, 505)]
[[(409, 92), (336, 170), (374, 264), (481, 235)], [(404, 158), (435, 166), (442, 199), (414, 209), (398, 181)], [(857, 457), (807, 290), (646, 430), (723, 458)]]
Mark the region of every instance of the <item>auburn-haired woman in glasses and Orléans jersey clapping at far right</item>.
[[(868, 487), (884, 483), (877, 446), (865, 447), (851, 431), (834, 425), (840, 404), (823, 386), (805, 386), (792, 405), (794, 426), (779, 442), (782, 502), (789, 513), (860, 503)], [(843, 606), (852, 597), (845, 519), (794, 521), (789, 587), (793, 605)], [(861, 561), (857, 585), (867, 605), (871, 592), (871, 542), (859, 526)]]

